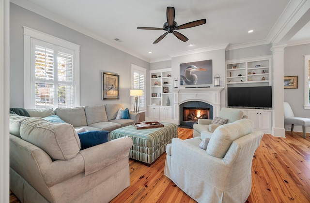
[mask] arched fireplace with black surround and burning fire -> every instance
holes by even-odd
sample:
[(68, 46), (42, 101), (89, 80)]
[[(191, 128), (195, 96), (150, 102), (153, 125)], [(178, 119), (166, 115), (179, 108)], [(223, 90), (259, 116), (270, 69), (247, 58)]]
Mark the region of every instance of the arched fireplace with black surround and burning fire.
[(190, 101), (180, 105), (180, 125), (192, 127), (198, 119), (213, 119), (213, 106), (206, 102)]

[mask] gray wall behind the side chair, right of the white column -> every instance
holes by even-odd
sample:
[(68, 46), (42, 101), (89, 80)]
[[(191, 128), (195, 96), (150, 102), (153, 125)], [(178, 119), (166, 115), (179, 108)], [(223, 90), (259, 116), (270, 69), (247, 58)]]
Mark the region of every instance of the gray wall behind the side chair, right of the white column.
[(298, 76), (297, 89), (284, 89), (284, 102), (290, 103), (294, 116), (310, 118), (310, 110), (304, 109), (304, 55), (310, 55), (310, 44), (284, 49), (284, 76)]

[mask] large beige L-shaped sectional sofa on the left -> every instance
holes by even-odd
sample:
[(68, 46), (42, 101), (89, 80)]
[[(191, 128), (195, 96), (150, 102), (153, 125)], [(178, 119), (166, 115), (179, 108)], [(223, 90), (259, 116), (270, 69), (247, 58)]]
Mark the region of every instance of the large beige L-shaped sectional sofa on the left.
[(131, 115), (135, 119), (113, 121), (119, 104), (112, 105), (56, 109), (67, 123), (41, 118), (53, 114), (47, 109), (28, 110), (37, 117), (10, 116), (10, 189), (21, 202), (108, 203), (130, 185), (132, 140), (124, 137), (80, 150), (75, 130), (111, 131), (139, 119)]

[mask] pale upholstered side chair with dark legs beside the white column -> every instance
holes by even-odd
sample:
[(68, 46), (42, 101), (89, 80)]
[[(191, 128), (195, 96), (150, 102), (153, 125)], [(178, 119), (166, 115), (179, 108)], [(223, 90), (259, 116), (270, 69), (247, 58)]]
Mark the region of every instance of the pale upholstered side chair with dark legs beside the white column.
[(294, 130), (294, 124), (302, 126), (302, 135), (306, 138), (306, 126), (310, 126), (310, 118), (295, 117), (292, 108), (288, 102), (284, 102), (284, 125), (292, 124), (291, 132)]

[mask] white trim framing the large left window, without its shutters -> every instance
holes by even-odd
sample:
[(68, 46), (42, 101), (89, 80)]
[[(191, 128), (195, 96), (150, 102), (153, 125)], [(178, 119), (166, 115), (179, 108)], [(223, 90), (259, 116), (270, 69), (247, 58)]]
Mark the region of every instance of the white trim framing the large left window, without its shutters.
[(23, 26), (24, 28), (24, 108), (34, 109), (35, 102), (32, 102), (32, 98), (34, 98), (34, 91), (31, 89), (31, 38), (37, 39), (40, 41), (44, 41), (47, 43), (52, 43), (58, 46), (65, 47), (67, 49), (75, 50), (75, 102), (74, 106), (79, 106), (79, 48), (80, 45), (71, 43), (60, 38), (54, 37), (52, 35), (48, 35), (46, 33), (40, 32), (35, 29), (28, 28)]

